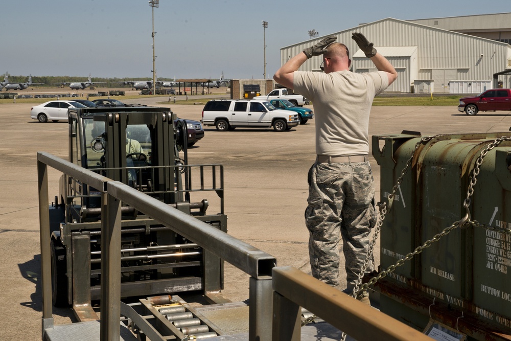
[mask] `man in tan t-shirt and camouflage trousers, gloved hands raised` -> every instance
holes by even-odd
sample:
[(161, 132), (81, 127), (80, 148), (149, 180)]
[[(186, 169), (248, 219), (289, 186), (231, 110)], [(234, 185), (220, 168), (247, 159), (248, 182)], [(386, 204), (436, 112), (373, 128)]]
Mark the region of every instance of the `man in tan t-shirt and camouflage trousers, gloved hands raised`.
[[(361, 33), (352, 38), (378, 71), (350, 71), (350, 52), (334, 36), (324, 38), (284, 64), (273, 79), (296, 90), (314, 105), (316, 161), (308, 174), (305, 220), (309, 230), (312, 275), (340, 290), (339, 235), (343, 240), (347, 288), (351, 293), (376, 222), (373, 172), (368, 162), (369, 113), (373, 99), (397, 78), (390, 62)], [(298, 71), (312, 56), (322, 55), (319, 72)], [(373, 270), (373, 264), (367, 271)], [(367, 292), (359, 300), (369, 304)]]

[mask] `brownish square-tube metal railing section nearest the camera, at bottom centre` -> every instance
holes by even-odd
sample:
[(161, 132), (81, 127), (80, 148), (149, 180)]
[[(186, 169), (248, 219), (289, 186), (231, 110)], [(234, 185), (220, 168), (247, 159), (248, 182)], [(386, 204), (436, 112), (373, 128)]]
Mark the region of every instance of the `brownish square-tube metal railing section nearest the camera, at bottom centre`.
[(429, 336), (292, 267), (274, 267), (272, 340), (299, 341), (300, 307), (357, 340), (431, 341)]

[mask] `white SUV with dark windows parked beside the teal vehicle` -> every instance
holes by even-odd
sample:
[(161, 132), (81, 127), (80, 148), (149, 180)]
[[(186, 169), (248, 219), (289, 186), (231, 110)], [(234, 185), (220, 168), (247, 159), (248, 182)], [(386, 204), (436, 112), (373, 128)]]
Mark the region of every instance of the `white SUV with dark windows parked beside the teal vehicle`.
[(236, 127), (269, 128), (284, 131), (300, 123), (298, 113), (275, 108), (261, 100), (211, 100), (202, 110), (203, 125), (225, 131)]

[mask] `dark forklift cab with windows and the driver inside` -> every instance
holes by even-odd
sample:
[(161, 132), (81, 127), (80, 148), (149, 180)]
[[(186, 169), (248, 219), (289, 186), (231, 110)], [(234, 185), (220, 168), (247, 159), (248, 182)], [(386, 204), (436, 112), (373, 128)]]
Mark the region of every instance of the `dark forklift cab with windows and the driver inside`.
[[(173, 116), (169, 109), (157, 107), (70, 110), (69, 160), (166, 203), (183, 201), (187, 142)], [(97, 189), (70, 185), (69, 192), (81, 197), (82, 211), (101, 207)]]

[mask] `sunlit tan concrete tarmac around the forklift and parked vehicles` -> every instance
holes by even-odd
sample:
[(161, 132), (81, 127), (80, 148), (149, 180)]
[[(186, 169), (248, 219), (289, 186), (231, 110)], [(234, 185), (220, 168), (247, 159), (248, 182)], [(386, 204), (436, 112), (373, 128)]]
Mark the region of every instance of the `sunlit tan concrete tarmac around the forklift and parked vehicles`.
[[(175, 105), (157, 99), (183, 119), (201, 119), (202, 105)], [(191, 97), (193, 100), (193, 97)], [(146, 102), (147, 101), (147, 102)], [(155, 98), (126, 100), (154, 103)], [(36, 152), (67, 159), (67, 123), (30, 119), (31, 104), (0, 104), (0, 292), (3, 339), (41, 337), (41, 287)], [(439, 133), (508, 131), (511, 112), (459, 113), (456, 107), (375, 106), (369, 136), (420, 131)], [(189, 149), (189, 162), (224, 165), (225, 213), (229, 234), (273, 255), (277, 265), (291, 265), (310, 274), (308, 232), (304, 223), (307, 171), (314, 162), (314, 125), (310, 120), (290, 131), (243, 129), (219, 132), (205, 127), (205, 137)], [(375, 174), (380, 198), (380, 171)], [(58, 193), (60, 174), (50, 170), (50, 197)], [(379, 264), (379, 245), (375, 249)], [(341, 254), (342, 257), (342, 254)], [(343, 262), (343, 260), (341, 261)], [(341, 263), (342, 264), (342, 263)], [(342, 270), (342, 269), (341, 269)], [(343, 275), (341, 275), (341, 279)], [(224, 295), (231, 301), (248, 298), (248, 275), (225, 267)], [(71, 309), (54, 309), (55, 324), (73, 321)]]

